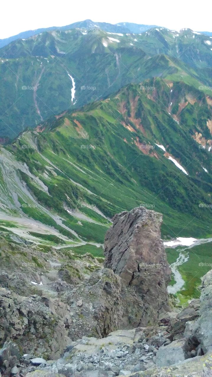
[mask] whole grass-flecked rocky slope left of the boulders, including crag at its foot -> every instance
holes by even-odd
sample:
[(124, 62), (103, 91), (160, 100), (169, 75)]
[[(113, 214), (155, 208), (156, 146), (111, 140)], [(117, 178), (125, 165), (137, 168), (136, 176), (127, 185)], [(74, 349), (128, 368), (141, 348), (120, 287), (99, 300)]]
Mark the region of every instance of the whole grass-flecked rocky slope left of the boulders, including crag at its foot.
[[(74, 322), (79, 328), (82, 324), (79, 299), (68, 305), (63, 293), (74, 291), (78, 284), (79, 290), (83, 289), (80, 284), (85, 277), (101, 264), (92, 255), (77, 257), (72, 251), (52, 249), (44, 253), (6, 242), (0, 249), (0, 347), (11, 339), (23, 353), (30, 350), (34, 356), (59, 357), (71, 342), (69, 329), (74, 339), (78, 336)], [(64, 270), (68, 271), (67, 281), (60, 278)]]

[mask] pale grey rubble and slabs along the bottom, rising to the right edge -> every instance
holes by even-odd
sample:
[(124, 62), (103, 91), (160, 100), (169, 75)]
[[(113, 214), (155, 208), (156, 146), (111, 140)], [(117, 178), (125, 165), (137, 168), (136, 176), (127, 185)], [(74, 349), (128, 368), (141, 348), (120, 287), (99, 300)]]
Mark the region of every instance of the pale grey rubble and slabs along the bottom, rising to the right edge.
[[(192, 300), (181, 312), (161, 314), (154, 326), (118, 330), (101, 339), (84, 336), (70, 342), (58, 360), (49, 360), (36, 368), (31, 360), (27, 367), (25, 365), (25, 371), (30, 371), (26, 376), (211, 377), (212, 352), (203, 352), (209, 339), (207, 332), (203, 331), (197, 339), (188, 328), (183, 331), (190, 323), (194, 329), (200, 328), (200, 324), (201, 329), (210, 328), (211, 307), (206, 307), (204, 295), (207, 289), (209, 303), (212, 299), (211, 275), (212, 271), (203, 278), (201, 299)], [(172, 341), (174, 337), (178, 339)], [(25, 355), (21, 360), (26, 363), (29, 356)]]

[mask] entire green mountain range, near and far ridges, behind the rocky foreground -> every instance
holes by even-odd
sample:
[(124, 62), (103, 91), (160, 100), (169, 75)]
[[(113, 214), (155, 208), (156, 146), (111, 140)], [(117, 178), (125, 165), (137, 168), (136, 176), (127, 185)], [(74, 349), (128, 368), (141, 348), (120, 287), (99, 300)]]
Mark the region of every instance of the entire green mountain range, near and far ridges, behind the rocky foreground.
[(210, 236), (212, 37), (89, 22), (0, 50), (4, 237), (94, 253), (138, 205), (164, 238)]

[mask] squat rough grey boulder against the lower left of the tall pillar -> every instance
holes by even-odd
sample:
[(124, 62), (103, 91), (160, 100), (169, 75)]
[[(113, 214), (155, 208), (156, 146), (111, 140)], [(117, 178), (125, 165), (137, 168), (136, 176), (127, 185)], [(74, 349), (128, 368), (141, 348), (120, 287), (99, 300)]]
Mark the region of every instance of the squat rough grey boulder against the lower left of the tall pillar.
[(84, 335), (104, 337), (120, 327), (124, 313), (121, 279), (112, 270), (99, 270), (65, 292), (61, 299), (70, 307), (72, 340)]

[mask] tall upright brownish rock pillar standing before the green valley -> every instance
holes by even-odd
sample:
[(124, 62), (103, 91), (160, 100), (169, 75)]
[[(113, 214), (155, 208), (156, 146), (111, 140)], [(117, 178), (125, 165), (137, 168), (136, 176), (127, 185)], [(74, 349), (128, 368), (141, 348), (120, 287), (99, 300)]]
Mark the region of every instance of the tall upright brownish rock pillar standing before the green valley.
[(137, 207), (115, 215), (112, 220), (104, 242), (104, 265), (132, 288), (143, 312), (137, 325), (146, 325), (168, 309), (171, 270), (161, 240), (162, 215)]

